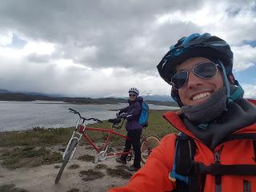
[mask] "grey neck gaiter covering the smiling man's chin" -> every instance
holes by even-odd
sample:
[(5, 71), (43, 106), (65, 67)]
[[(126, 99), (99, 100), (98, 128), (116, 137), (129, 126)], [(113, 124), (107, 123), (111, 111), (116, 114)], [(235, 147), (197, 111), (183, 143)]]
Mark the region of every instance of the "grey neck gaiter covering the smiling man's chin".
[(226, 110), (226, 87), (222, 87), (201, 104), (182, 106), (182, 113), (191, 122), (206, 123), (218, 118)]

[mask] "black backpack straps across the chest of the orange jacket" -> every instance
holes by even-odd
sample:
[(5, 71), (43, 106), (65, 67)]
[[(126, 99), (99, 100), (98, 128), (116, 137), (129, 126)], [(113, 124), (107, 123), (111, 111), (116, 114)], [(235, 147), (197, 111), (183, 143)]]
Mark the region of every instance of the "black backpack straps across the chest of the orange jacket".
[[(232, 134), (225, 141), (250, 139), (254, 146), (254, 161), (256, 162), (256, 134)], [(178, 134), (176, 138), (174, 165), (169, 174), (171, 182), (176, 182), (178, 191), (203, 191), (206, 174), (218, 175), (256, 175), (255, 165), (221, 165), (205, 166), (202, 162), (194, 162), (194, 139), (186, 134)]]

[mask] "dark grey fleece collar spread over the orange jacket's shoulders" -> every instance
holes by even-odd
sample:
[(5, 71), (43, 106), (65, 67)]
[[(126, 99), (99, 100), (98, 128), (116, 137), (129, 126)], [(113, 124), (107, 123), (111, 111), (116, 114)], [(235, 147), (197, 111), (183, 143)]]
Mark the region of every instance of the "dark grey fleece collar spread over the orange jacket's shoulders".
[(245, 126), (256, 123), (256, 106), (244, 98), (236, 102), (230, 102), (220, 117), (210, 122), (206, 130), (198, 128), (198, 124), (190, 122), (188, 118), (182, 118), (186, 128), (200, 139), (211, 150), (222, 143), (230, 134)]

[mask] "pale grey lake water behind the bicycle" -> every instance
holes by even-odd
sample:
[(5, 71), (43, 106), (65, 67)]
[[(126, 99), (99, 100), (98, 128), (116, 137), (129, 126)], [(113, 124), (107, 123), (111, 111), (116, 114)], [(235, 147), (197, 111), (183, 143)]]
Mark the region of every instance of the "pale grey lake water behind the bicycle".
[[(68, 112), (69, 108), (78, 110), (83, 117), (101, 120), (114, 118), (116, 111), (127, 106), (126, 103), (107, 105), (75, 105), (65, 102), (3, 102), (0, 101), (0, 131), (28, 130), (40, 127), (74, 126), (78, 116)], [(172, 106), (149, 105), (152, 110), (173, 110)]]

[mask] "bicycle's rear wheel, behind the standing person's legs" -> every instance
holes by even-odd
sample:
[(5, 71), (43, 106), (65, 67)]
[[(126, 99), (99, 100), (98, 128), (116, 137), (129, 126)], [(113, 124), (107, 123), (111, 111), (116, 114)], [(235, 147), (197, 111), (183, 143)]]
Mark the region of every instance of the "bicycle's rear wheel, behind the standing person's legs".
[(141, 145), (142, 163), (146, 163), (146, 159), (149, 157), (154, 147), (159, 145), (159, 142), (160, 142), (160, 139), (158, 138), (158, 136), (155, 136), (155, 135), (149, 135), (142, 141), (142, 145)]

